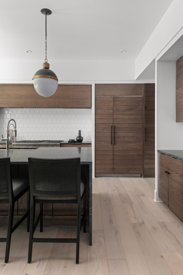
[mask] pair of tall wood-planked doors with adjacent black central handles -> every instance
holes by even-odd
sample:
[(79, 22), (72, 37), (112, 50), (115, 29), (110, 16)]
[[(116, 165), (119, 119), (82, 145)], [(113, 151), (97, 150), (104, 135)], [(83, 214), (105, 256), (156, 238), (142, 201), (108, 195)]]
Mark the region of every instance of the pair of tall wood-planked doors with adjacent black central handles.
[(143, 174), (142, 109), (142, 97), (96, 97), (96, 176)]

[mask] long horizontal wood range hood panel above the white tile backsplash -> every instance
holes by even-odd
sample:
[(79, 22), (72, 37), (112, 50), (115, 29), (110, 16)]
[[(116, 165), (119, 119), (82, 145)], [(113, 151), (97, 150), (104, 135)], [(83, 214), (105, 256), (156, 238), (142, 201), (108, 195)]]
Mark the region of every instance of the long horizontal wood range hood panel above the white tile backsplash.
[(0, 108), (91, 108), (91, 85), (58, 85), (51, 97), (41, 97), (32, 84), (1, 84)]

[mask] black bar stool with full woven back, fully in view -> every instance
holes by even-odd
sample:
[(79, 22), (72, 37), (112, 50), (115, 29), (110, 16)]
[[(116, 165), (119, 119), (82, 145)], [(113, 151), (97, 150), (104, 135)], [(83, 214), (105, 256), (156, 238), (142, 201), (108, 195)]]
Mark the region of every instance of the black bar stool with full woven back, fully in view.
[[(86, 180), (81, 179), (80, 158), (43, 159), (28, 158), (30, 181), (30, 233), (28, 263), (32, 260), (33, 242), (76, 243), (76, 264), (79, 263), (79, 239), (83, 225), (86, 232)], [(80, 217), (81, 200), (83, 215)], [(40, 213), (35, 221), (35, 204), (40, 204)], [(76, 238), (34, 238), (33, 234), (40, 221), (43, 231), (43, 203), (77, 203)]]

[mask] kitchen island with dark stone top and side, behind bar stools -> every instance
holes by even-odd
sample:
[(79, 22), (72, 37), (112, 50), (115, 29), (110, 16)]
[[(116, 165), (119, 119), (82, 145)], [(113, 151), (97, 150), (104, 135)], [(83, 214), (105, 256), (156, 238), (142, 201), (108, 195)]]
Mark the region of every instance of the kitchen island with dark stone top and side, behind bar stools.
[[(0, 150), (0, 158), (10, 157), (12, 173), (15, 176), (28, 175), (28, 157), (33, 158), (76, 158), (81, 160), (81, 174), (87, 178), (87, 219), (89, 225), (89, 245), (92, 245), (92, 148), (61, 148), (61, 147), (42, 147), (33, 150)], [(22, 215), (21, 209), (25, 208), (24, 201), (20, 201), (17, 215)], [(1, 208), (2, 215), (7, 207)], [(75, 225), (76, 208), (66, 209), (65, 204), (45, 204), (44, 205), (44, 224), (47, 226)], [(18, 211), (18, 210), (17, 210)], [(1, 223), (2, 224), (2, 223)]]

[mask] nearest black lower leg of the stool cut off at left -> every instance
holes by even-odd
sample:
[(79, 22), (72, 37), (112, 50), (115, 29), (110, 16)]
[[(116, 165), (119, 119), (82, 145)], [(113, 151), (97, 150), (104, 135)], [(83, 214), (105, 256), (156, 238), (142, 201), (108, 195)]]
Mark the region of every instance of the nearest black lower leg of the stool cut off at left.
[(14, 202), (9, 202), (9, 216), (8, 216), (8, 228), (7, 228), (7, 238), (6, 238), (6, 252), (5, 252), (5, 263), (9, 261), (9, 250), (11, 243), (11, 233), (13, 226), (13, 214), (14, 214)]

